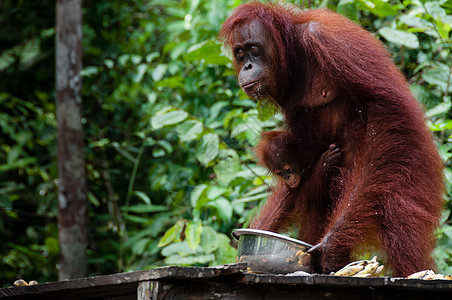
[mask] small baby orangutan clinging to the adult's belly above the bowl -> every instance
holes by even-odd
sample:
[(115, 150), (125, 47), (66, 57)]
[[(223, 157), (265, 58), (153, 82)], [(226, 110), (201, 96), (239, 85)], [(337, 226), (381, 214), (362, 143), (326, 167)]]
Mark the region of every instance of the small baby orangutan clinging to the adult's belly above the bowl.
[[(323, 153), (322, 150), (317, 151), (321, 155), (316, 156), (300, 149), (300, 144), (289, 131), (262, 134), (255, 149), (259, 163), (277, 176), (274, 189), (284, 192), (270, 195), (259, 215), (251, 221), (250, 227), (277, 232), (289, 223), (299, 224), (299, 238), (315, 243), (324, 228), (311, 226), (316, 223), (310, 220), (325, 215), (324, 208), (327, 206), (324, 204), (331, 201), (331, 179), (338, 171), (336, 167), (342, 162), (342, 153), (335, 144), (331, 144)], [(317, 160), (313, 160), (313, 157), (317, 157)], [(272, 218), (279, 221), (268, 222)], [(303, 222), (291, 222), (294, 219)]]

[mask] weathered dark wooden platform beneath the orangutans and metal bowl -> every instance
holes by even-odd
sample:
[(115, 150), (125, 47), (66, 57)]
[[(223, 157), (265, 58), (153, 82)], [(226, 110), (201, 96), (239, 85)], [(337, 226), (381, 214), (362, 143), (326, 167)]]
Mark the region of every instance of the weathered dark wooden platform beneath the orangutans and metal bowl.
[(452, 281), (245, 273), (246, 264), (146, 271), (0, 289), (0, 299), (452, 299)]

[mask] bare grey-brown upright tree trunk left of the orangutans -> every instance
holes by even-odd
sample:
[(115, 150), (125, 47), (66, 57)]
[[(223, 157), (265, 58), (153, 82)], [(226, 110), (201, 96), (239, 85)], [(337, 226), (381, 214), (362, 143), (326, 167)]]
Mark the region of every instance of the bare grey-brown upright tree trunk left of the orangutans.
[(81, 0), (57, 0), (56, 3), (60, 280), (87, 274), (87, 201), (80, 96), (81, 9)]

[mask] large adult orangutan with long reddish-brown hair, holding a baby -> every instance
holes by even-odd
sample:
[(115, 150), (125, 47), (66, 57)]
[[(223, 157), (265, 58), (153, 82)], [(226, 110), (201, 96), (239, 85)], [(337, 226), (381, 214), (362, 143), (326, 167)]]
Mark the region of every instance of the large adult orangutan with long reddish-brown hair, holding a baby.
[[(286, 128), (264, 136), (257, 149), (273, 158), (263, 161), (270, 170), (283, 167), (283, 179), (251, 226), (277, 231), (295, 222), (299, 238), (316, 244), (322, 272), (369, 245), (383, 250), (396, 276), (432, 268), (442, 162), (384, 46), (329, 10), (260, 2), (239, 6), (220, 37), (245, 93), (273, 101), (285, 116)], [(289, 142), (280, 144), (278, 135)], [(332, 144), (341, 162), (319, 195), (304, 183)], [(279, 158), (272, 149), (288, 152)], [(291, 187), (285, 170), (301, 184)]]

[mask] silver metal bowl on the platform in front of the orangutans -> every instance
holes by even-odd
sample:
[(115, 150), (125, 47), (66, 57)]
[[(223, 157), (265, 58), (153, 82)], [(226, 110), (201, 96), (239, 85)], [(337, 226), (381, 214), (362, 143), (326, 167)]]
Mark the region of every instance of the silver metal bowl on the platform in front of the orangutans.
[(287, 274), (297, 271), (312, 273), (312, 245), (271, 231), (236, 229), (239, 241), (238, 261), (247, 263), (253, 273)]

